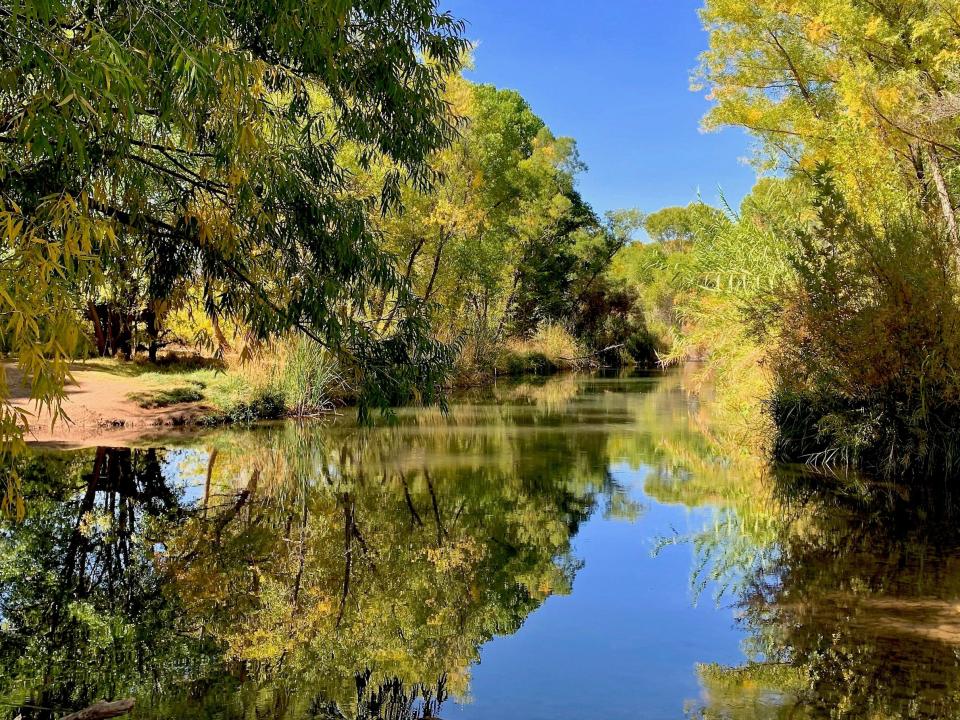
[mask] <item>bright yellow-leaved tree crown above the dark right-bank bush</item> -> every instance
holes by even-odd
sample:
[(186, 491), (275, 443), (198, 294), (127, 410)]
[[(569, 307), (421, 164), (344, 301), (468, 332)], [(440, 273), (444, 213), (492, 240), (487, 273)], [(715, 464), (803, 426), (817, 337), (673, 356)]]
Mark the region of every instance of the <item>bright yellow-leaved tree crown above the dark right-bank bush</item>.
[(716, 104), (704, 124), (748, 129), (766, 166), (806, 175), (831, 166), (872, 222), (919, 201), (956, 245), (958, 9), (956, 0), (710, 0), (696, 82)]

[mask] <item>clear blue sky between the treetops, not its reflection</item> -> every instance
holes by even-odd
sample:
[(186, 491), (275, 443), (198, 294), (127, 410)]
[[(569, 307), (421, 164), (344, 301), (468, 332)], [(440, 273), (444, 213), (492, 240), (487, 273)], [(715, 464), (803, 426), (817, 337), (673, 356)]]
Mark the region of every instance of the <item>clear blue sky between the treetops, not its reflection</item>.
[(704, 134), (690, 91), (706, 47), (701, 0), (441, 0), (478, 42), (469, 76), (512, 88), (557, 135), (576, 138), (598, 211), (731, 203), (751, 188), (739, 130)]

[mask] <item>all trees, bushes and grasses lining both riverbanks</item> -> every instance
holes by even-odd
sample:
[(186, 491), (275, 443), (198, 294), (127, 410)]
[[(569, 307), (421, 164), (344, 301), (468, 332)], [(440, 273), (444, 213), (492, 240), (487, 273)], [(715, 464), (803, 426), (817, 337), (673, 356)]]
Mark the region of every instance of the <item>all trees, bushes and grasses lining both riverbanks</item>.
[[(757, 184), (736, 208), (601, 216), (575, 140), (467, 80), (464, 22), (434, 3), (152, 2), (5, 13), (12, 484), (24, 405), (65, 422), (84, 358), (132, 368), (132, 413), (211, 423), (345, 398), (367, 422), (496, 375), (703, 360), (730, 448), (960, 474), (949, 3), (706, 0), (704, 126), (756, 138)], [(171, 348), (207, 360), (175, 382), (132, 362)]]

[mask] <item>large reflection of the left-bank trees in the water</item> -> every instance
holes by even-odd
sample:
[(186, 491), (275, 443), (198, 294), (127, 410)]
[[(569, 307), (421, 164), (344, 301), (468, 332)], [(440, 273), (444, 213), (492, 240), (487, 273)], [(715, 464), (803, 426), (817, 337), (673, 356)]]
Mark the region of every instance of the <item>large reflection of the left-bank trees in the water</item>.
[[(418, 420), (423, 423), (422, 417)], [(0, 560), (11, 717), (426, 718), (578, 563), (605, 439), (283, 426), (37, 455)]]

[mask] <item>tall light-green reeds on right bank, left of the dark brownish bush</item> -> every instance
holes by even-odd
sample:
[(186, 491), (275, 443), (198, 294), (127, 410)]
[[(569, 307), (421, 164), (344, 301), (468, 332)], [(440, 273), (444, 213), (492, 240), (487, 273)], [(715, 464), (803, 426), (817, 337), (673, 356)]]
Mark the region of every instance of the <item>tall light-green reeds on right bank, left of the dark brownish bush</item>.
[(770, 443), (768, 348), (794, 275), (789, 238), (804, 223), (806, 197), (796, 182), (761, 181), (739, 211), (705, 214), (689, 257), (674, 264), (679, 329), (662, 361), (707, 361), (699, 381), (712, 388), (731, 450), (759, 455)]

